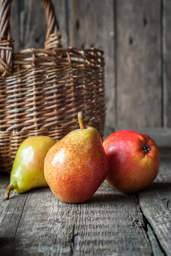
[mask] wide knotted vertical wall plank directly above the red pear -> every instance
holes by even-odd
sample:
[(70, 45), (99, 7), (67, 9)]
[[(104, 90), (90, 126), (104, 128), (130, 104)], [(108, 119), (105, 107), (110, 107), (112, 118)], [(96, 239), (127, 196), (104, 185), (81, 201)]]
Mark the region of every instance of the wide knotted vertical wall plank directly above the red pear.
[(116, 1), (119, 128), (162, 125), (161, 1)]

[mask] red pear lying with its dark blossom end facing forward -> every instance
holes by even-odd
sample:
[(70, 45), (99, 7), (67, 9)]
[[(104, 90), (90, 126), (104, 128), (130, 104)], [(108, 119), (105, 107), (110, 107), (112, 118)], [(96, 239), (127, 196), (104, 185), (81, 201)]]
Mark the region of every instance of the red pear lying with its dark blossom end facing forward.
[(104, 140), (109, 160), (105, 183), (122, 192), (136, 192), (159, 172), (159, 149), (150, 137), (136, 131), (116, 131)]

